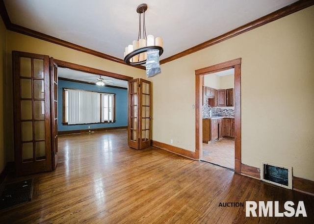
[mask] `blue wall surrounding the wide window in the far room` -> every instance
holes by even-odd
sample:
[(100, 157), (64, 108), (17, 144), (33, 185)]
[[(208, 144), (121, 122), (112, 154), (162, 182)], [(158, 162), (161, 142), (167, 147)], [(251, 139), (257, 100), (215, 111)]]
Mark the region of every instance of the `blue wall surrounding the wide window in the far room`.
[[(100, 124), (62, 124), (62, 90), (63, 88), (89, 90), (101, 93), (115, 94), (115, 123), (100, 123)], [(85, 84), (79, 82), (65, 81), (58, 79), (58, 131), (83, 130), (104, 127), (122, 127), (128, 126), (128, 90), (118, 89), (106, 86), (97, 86), (93, 84)]]

